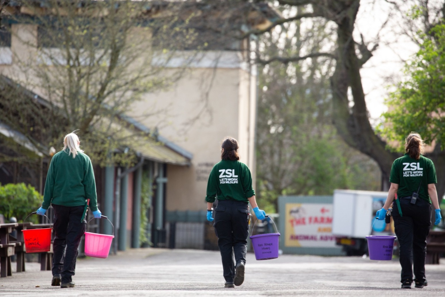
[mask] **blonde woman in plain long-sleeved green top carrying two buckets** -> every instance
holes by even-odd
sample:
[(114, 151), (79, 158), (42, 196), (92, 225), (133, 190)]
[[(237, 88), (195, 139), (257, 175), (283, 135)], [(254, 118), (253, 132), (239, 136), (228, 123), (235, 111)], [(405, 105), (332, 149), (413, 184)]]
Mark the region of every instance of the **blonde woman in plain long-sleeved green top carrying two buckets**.
[(97, 208), (96, 182), (93, 165), (80, 148), (77, 135), (69, 133), (63, 148), (53, 156), (46, 176), (42, 206), (43, 216), (49, 205), (54, 209), (53, 279), (51, 285), (61, 288), (75, 286), (73, 275), (82, 235), (85, 232), (85, 210), (89, 207), (95, 218), (101, 218)]

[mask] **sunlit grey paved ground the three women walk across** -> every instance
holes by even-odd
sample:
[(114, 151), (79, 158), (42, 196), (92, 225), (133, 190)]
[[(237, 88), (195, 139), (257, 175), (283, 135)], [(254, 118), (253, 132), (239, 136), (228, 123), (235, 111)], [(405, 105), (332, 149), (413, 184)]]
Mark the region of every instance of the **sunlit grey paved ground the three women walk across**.
[[(206, 296), (445, 296), (445, 259), (426, 265), (429, 285), (400, 289), (398, 260), (281, 255), (255, 260), (249, 253), (244, 284), (225, 289), (219, 252), (130, 249), (107, 259), (77, 261), (75, 288), (51, 286), (51, 272), (26, 263), (26, 272), (0, 279), (8, 297), (206, 297)], [(13, 268), (15, 269), (15, 268)], [(13, 270), (14, 271), (14, 270)]]

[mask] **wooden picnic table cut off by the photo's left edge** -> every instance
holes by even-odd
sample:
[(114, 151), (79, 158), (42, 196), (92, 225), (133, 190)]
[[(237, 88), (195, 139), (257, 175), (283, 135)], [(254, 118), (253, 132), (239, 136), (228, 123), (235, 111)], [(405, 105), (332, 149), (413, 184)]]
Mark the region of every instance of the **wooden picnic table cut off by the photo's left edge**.
[(11, 256), (15, 254), (16, 243), (9, 242), (9, 233), (17, 223), (0, 224), (0, 277), (12, 275)]

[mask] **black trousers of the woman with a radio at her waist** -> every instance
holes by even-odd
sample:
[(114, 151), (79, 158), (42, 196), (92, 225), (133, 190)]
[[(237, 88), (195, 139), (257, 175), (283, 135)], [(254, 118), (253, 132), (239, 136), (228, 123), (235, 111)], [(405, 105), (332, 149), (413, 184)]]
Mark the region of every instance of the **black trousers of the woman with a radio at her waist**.
[(431, 204), (417, 198), (416, 204), (410, 203), (411, 197), (400, 198), (402, 216), (394, 203), (392, 211), (394, 231), (399, 241), (401, 282), (405, 280), (425, 281), (426, 237), (431, 226)]

